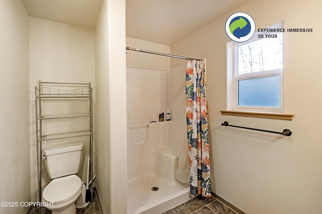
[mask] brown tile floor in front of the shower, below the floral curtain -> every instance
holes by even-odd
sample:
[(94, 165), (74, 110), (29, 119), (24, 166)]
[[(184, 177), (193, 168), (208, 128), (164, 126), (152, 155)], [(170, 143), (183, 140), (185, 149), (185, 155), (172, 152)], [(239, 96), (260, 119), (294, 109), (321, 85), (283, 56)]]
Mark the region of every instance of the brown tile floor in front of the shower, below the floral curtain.
[(215, 197), (195, 197), (162, 214), (238, 214)]

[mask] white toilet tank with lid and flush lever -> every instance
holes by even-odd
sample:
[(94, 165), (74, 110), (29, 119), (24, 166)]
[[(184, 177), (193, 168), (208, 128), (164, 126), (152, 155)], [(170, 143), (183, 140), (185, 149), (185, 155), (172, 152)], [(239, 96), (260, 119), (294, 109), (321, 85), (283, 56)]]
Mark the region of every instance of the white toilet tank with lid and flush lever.
[(44, 149), (45, 164), (51, 179), (76, 174), (82, 166), (84, 143), (72, 143)]

